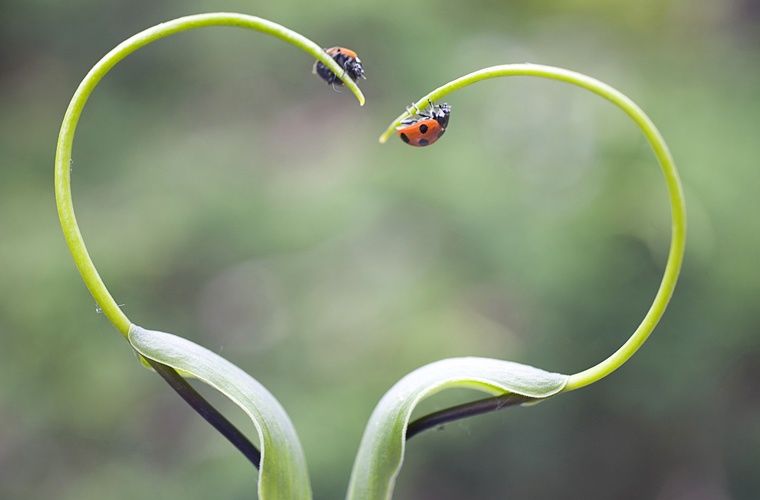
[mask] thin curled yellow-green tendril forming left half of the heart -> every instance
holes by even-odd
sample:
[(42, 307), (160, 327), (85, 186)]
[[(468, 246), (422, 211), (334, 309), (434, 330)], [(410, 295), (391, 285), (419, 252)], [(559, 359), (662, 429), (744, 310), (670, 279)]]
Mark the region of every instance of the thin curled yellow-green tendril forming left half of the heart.
[(95, 269), (95, 265), (87, 253), (87, 247), (84, 244), (82, 234), (79, 231), (76, 217), (74, 215), (74, 206), (71, 198), (70, 170), (74, 132), (79, 117), (82, 114), (82, 109), (93, 89), (106, 73), (116, 65), (116, 63), (140, 47), (148, 45), (160, 38), (206, 26), (233, 26), (252, 29), (275, 36), (293, 44), (306, 51), (313, 58), (324, 63), (336, 75), (340, 75), (340, 78), (346, 87), (348, 87), (357, 99), (359, 99), (359, 103), (362, 105), (364, 104), (364, 96), (356, 83), (345, 75), (343, 68), (328, 56), (322, 47), (308, 38), (280, 26), (279, 24), (244, 14), (225, 12), (199, 14), (162, 23), (152, 28), (148, 28), (147, 30), (125, 40), (98, 61), (87, 76), (85, 76), (84, 80), (82, 80), (82, 83), (79, 84), (79, 87), (74, 93), (74, 97), (71, 99), (69, 107), (66, 110), (66, 115), (63, 118), (55, 156), (55, 194), (56, 203), (58, 205), (58, 217), (61, 221), (61, 227), (63, 228), (66, 242), (71, 250), (71, 254), (74, 256), (76, 266), (87, 284), (90, 293), (92, 293), (95, 301), (103, 310), (103, 313), (125, 338), (129, 333), (130, 321), (116, 304), (116, 301), (108, 292), (98, 271)]

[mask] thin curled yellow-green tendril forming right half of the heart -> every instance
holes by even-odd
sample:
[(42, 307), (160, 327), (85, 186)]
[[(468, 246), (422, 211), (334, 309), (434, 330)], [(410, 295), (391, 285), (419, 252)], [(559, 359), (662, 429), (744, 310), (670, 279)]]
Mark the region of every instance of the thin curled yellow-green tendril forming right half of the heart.
[[(655, 157), (660, 163), (668, 188), (673, 226), (671, 232), (670, 252), (668, 254), (667, 264), (665, 265), (665, 273), (660, 282), (660, 287), (655, 295), (654, 301), (652, 302), (652, 306), (649, 308), (649, 311), (641, 321), (639, 327), (636, 328), (631, 337), (617, 351), (601, 363), (570, 376), (562, 392), (572, 391), (604, 378), (628, 361), (628, 359), (633, 356), (639, 347), (641, 347), (646, 341), (665, 312), (665, 308), (670, 301), (670, 297), (673, 295), (673, 290), (676, 286), (676, 281), (678, 280), (678, 274), (681, 270), (686, 244), (686, 206), (684, 203), (683, 188), (681, 186), (681, 181), (678, 178), (678, 171), (673, 162), (673, 157), (660, 135), (660, 132), (649, 117), (647, 117), (647, 115), (644, 114), (644, 112), (631, 99), (623, 95), (620, 91), (610, 87), (606, 83), (574, 71), (537, 64), (508, 64), (503, 66), (493, 66), (470, 73), (469, 75), (465, 75), (447, 83), (446, 85), (438, 87), (417, 101), (415, 106), (424, 109), (427, 106), (428, 101), (440, 100), (443, 96), (462, 87), (466, 87), (467, 85), (481, 80), (505, 76), (537, 76), (552, 80), (560, 80), (590, 90), (618, 106), (634, 122), (636, 122), (644, 133), (644, 136), (654, 151)], [(412, 111), (414, 111), (413, 108)], [(410, 113), (405, 112), (396, 118), (396, 120), (391, 123), (386, 131), (380, 136), (380, 142), (387, 141), (388, 137), (394, 133), (395, 128), (401, 123), (401, 120), (408, 118), (409, 116)]]

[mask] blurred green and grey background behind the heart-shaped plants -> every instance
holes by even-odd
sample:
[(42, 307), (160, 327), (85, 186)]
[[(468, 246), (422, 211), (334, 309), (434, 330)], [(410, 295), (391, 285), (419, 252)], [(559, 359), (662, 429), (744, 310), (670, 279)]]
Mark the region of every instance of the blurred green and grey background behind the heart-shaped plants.
[(226, 356), (281, 401), (315, 498), (344, 496), (374, 405), (414, 368), (476, 355), (574, 373), (654, 297), (664, 183), (598, 97), (489, 81), (451, 97), (435, 147), (377, 143), (433, 88), (525, 61), (602, 79), (658, 125), (687, 195), (682, 279), (604, 381), (410, 441), (395, 498), (760, 498), (757, 0), (4, 0), (0, 498), (255, 496), (255, 470), (96, 312), (53, 197), (58, 127), (89, 68), (144, 28), (220, 10), (356, 50), (367, 105), (271, 37), (179, 34), (94, 92), (74, 201), (132, 321)]

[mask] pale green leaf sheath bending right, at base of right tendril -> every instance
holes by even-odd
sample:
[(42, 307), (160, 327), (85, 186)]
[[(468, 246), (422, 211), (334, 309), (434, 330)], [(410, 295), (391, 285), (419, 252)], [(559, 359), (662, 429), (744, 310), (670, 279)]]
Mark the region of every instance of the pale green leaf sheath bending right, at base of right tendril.
[(418, 368), (397, 382), (372, 413), (351, 472), (347, 498), (391, 498), (404, 460), (406, 428), (415, 406), (424, 398), (452, 387), (547, 398), (561, 391), (567, 378), (488, 358), (444, 359)]

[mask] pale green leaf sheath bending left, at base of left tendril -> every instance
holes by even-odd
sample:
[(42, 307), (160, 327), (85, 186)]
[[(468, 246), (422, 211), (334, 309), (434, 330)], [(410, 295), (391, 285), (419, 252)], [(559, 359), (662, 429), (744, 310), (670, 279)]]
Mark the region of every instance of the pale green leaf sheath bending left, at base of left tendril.
[(263, 385), (221, 356), (176, 335), (132, 325), (129, 342), (146, 358), (214, 387), (248, 414), (261, 447), (261, 500), (311, 498), (306, 459), (296, 431), (280, 403)]

